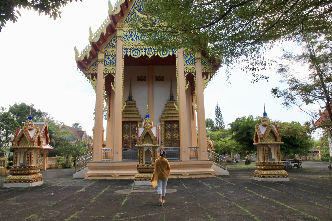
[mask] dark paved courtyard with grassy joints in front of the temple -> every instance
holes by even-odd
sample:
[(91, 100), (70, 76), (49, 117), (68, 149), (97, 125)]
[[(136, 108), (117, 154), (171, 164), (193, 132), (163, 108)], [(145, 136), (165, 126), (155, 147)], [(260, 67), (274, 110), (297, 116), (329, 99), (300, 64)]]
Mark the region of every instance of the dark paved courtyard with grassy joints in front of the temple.
[(151, 186), (52, 169), (42, 186), (0, 188), (0, 220), (332, 220), (328, 165), (303, 161), (289, 182), (258, 182), (254, 164), (233, 163), (229, 176), (170, 179), (163, 206)]

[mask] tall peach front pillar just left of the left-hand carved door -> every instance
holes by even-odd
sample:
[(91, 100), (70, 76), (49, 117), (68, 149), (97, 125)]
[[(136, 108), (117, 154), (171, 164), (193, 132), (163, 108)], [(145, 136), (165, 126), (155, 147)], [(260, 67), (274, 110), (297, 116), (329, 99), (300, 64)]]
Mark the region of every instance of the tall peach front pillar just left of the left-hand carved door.
[(115, 69), (115, 93), (113, 107), (113, 152), (114, 161), (122, 161), (122, 106), (123, 106), (123, 30), (117, 30), (117, 51), (116, 51), (116, 69)]

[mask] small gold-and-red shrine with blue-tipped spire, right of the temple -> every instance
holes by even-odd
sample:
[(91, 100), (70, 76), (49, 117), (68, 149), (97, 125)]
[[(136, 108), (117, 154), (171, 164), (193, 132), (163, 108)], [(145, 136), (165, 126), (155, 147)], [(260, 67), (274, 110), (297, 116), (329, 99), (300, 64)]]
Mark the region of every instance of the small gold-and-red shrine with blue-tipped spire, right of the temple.
[(288, 173), (283, 170), (280, 144), (284, 143), (276, 123), (272, 124), (265, 112), (260, 125), (255, 126), (253, 145), (257, 146), (257, 161), (254, 180), (289, 181)]

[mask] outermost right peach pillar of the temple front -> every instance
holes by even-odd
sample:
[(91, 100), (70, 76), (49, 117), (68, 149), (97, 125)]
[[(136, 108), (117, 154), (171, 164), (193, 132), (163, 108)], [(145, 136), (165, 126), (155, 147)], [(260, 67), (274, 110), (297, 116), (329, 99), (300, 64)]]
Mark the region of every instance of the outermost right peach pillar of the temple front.
[(200, 147), (199, 159), (207, 160), (207, 143), (206, 143), (206, 125), (205, 125), (205, 110), (204, 110), (204, 87), (203, 87), (203, 73), (201, 52), (195, 53), (196, 66), (196, 100), (197, 100), (197, 126), (198, 126), (198, 146)]

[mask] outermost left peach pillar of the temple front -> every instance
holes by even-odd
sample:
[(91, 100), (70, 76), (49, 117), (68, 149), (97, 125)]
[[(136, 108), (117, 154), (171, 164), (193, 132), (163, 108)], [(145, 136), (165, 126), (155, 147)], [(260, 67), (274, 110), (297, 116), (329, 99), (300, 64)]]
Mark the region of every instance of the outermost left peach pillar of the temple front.
[(96, 85), (96, 109), (95, 129), (93, 136), (93, 161), (102, 161), (103, 148), (103, 104), (104, 104), (104, 60), (105, 53), (97, 53), (97, 85)]

